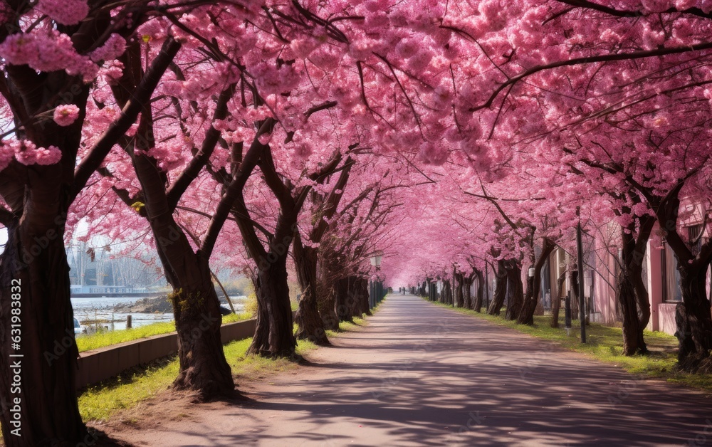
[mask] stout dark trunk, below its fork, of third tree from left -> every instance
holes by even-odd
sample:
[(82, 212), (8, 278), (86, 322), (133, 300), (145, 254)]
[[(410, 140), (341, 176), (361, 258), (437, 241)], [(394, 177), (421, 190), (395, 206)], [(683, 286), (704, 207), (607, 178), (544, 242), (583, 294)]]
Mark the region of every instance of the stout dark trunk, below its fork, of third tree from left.
[(257, 328), (248, 354), (294, 357), (297, 342), (292, 332), (286, 251), (281, 255), (271, 251), (268, 259), (258, 263), (254, 285), (258, 303)]

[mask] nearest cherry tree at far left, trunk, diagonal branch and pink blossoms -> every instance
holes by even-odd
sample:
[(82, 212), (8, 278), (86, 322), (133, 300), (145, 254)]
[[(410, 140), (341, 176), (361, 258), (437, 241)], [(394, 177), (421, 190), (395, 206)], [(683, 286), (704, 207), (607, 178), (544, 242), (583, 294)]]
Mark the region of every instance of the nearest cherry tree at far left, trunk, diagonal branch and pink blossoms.
[[(2, 407), (0, 423), (9, 445), (77, 443), (86, 429), (75, 390), (77, 348), (64, 247), (68, 212), (150, 100), (180, 43), (167, 42), (146, 61), (147, 76), (127, 92), (125, 107), (80, 150), (93, 81), (155, 6), (139, 1), (112, 12), (103, 2), (11, 1), (1, 8), (6, 138), (0, 147), (0, 223), (8, 242), (0, 258), (0, 315), (4, 327), (13, 319), (21, 325), (14, 347), (3, 336), (3, 388), (13, 383), (9, 354), (35, 360), (22, 367), (22, 436), (11, 433), (17, 419), (10, 406)], [(56, 352), (57, 344), (67, 349)]]

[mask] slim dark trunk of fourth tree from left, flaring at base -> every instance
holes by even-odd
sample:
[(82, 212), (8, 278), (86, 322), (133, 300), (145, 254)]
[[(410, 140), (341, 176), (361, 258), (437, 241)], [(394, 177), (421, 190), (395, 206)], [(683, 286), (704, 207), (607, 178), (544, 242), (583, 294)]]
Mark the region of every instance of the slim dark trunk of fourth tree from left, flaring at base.
[(297, 278), (302, 289), (294, 319), (298, 326), (297, 340), (310, 340), (319, 346), (330, 345), (317, 304), (317, 249), (303, 246), (299, 231), (295, 231), (293, 255)]

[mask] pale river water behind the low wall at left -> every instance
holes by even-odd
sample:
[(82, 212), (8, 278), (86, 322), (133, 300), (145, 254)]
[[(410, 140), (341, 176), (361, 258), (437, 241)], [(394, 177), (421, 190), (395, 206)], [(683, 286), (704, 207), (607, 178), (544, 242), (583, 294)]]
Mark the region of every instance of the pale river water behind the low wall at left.
[[(83, 325), (86, 320), (108, 320), (108, 323), (102, 323), (102, 325), (108, 327), (109, 330), (126, 329), (127, 315), (131, 315), (133, 327), (150, 325), (156, 322), (173, 321), (172, 313), (127, 314), (113, 311), (115, 305), (129, 305), (144, 298), (147, 297), (72, 298), (72, 308), (74, 310), (74, 317), (82, 322)], [(230, 299), (236, 312), (244, 311), (246, 300), (245, 296), (231, 296)], [(112, 320), (113, 322), (111, 322)]]

